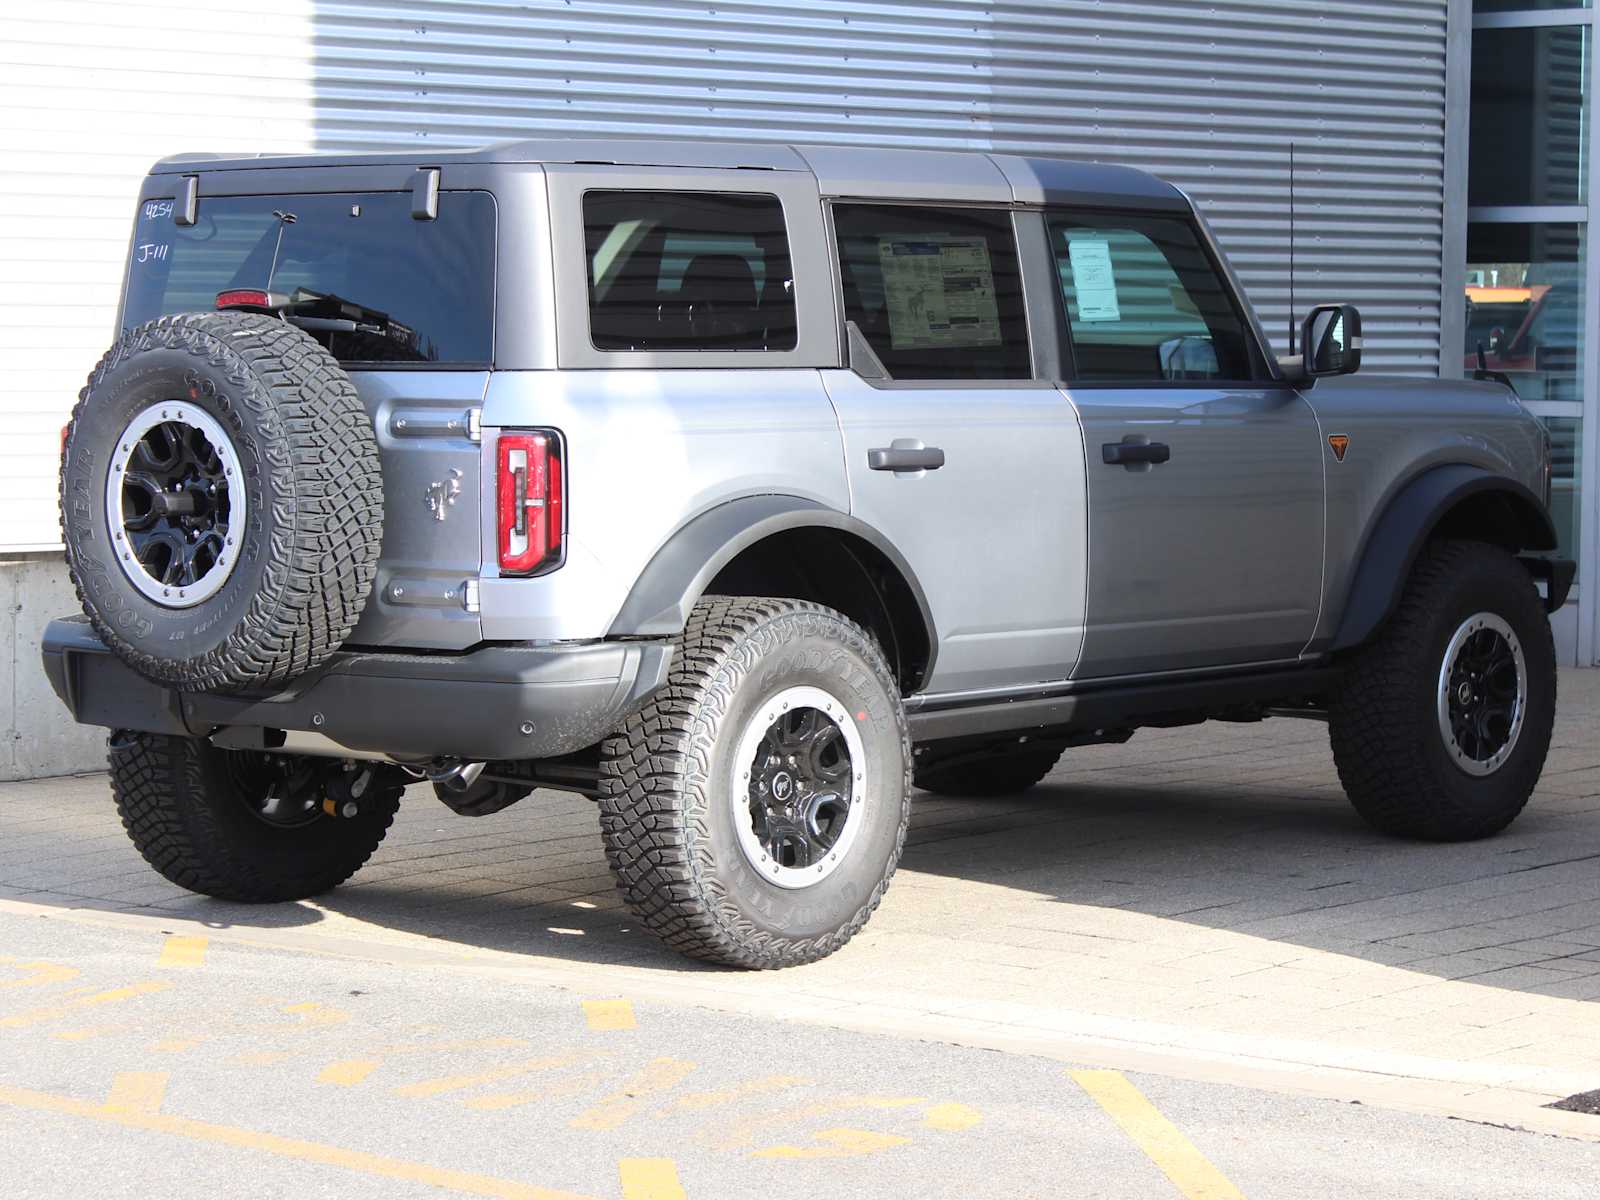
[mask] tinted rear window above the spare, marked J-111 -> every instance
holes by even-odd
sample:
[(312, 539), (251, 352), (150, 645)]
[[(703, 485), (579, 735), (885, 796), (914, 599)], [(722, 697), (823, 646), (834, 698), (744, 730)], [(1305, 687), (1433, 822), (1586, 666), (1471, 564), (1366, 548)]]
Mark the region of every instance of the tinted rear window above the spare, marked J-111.
[[(171, 200), (139, 206), (123, 330), (259, 288), (344, 363), (488, 365), (494, 333), (494, 200), (443, 192), (438, 218), (410, 192), (202, 197), (194, 226)], [(354, 326), (354, 328), (347, 328)]]

